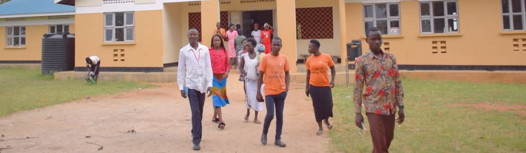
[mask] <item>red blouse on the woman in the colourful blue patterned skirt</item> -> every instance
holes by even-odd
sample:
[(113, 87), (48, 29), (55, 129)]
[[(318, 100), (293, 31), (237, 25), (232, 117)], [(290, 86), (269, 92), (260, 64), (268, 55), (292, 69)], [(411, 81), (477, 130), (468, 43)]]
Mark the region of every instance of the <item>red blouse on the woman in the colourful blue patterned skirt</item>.
[(221, 48), (219, 52), (214, 48), (208, 49), (210, 52), (210, 63), (212, 63), (212, 73), (222, 74), (227, 70), (230, 70), (230, 65), (228, 61), (228, 54), (226, 53), (225, 48)]

